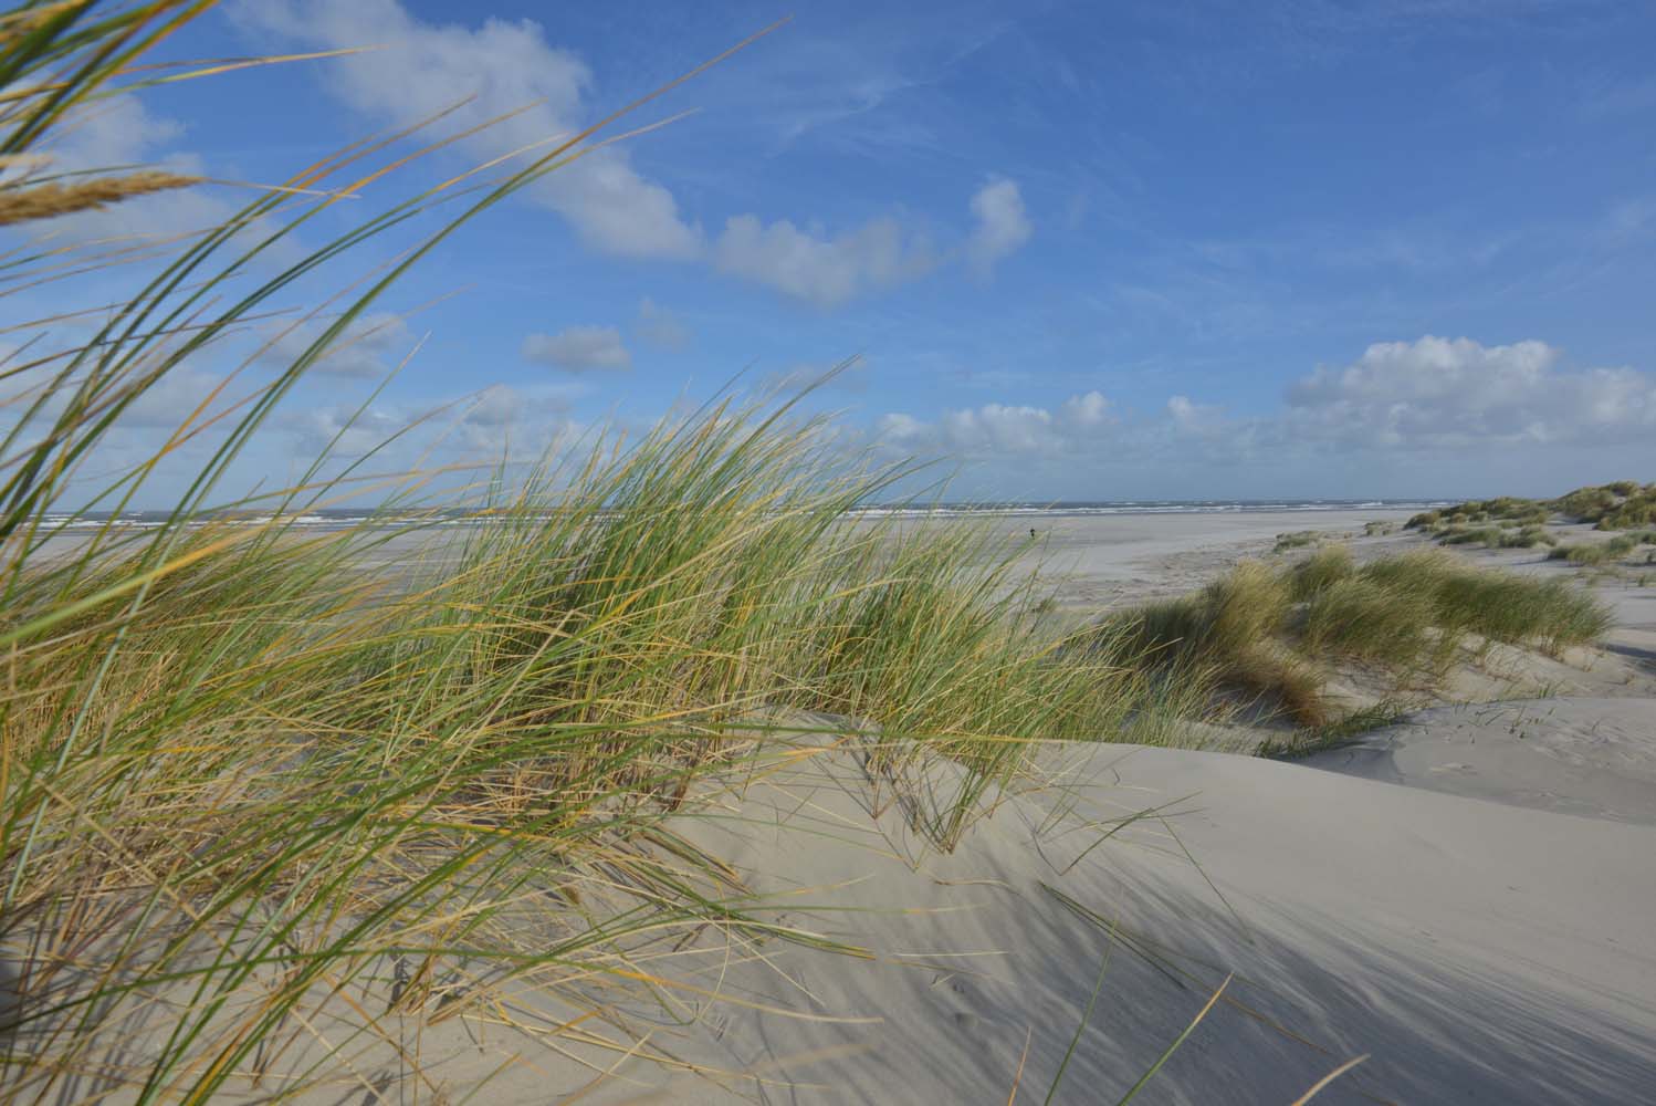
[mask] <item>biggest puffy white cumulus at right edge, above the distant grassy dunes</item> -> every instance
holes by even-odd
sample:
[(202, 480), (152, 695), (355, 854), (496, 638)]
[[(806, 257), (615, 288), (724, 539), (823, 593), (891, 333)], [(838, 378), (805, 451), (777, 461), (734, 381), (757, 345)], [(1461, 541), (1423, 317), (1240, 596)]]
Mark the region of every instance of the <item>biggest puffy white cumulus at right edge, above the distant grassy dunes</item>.
[(1656, 376), (1570, 369), (1543, 341), (1376, 343), (1351, 364), (1295, 381), (1287, 399), (1295, 434), (1348, 444), (1588, 442), (1656, 430)]

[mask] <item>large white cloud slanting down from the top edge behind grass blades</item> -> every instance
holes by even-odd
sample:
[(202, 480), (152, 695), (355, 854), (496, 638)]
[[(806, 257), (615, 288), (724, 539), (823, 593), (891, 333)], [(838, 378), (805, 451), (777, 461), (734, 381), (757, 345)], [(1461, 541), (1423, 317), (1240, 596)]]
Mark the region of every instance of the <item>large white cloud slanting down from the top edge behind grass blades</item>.
[[(548, 45), (532, 20), (489, 18), (475, 30), (437, 25), (414, 18), (397, 0), (248, 0), (233, 13), (255, 31), (305, 46), (378, 45), (335, 58), (321, 71), (339, 99), (391, 126), (412, 126), (460, 104), (440, 124), (440, 132), (452, 134), (518, 111), (465, 139), (480, 159), (568, 136), (590, 123), (590, 70), (573, 53)], [(686, 258), (702, 248), (700, 230), (682, 219), (672, 194), (644, 179), (618, 147), (556, 169), (527, 195), (606, 253)]]

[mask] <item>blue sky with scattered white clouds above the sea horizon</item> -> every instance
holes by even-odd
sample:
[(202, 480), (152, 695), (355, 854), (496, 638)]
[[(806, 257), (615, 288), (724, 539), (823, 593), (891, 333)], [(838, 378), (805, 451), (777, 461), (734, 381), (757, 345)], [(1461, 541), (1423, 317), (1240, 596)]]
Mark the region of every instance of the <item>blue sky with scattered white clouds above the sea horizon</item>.
[[(533, 454), (854, 358), (803, 407), (848, 450), (937, 459), (952, 498), (1656, 480), (1656, 5), (230, 0), (166, 56), (373, 50), (116, 98), (58, 157), (278, 182), (447, 111), (421, 134), (449, 146), (330, 207), (301, 253), (790, 15), (444, 240), (235, 478), (434, 411), (422, 460)], [(185, 230), (247, 199), (207, 185), (50, 233)], [(353, 253), (308, 303), (436, 227)], [(258, 363), (311, 328), (272, 329)], [(229, 358), (147, 397), (111, 464)]]

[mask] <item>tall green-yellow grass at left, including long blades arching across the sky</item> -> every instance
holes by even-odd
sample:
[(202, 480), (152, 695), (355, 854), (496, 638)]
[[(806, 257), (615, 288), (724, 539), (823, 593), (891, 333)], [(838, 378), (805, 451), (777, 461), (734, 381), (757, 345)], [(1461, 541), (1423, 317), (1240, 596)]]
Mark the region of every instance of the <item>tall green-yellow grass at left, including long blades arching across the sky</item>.
[[(0, 23), (3, 152), (31, 154), (205, 7), (15, 10)], [(962, 786), (914, 795), (947, 848), (1025, 742), (1163, 740), (1179, 697), (1202, 697), (1045, 629), (1015, 550), (985, 533), (848, 520), (907, 469), (846, 460), (787, 411), (725, 404), (624, 449), (595, 439), (528, 477), (502, 472), (444, 503), (474, 512), (464, 528), (414, 508), (417, 475), (369, 525), (291, 528), (354, 487), (316, 478), (326, 459), (300, 487), (215, 498), (397, 275), (591, 134), (388, 204), (286, 267), (272, 247), (298, 248), (407, 136), (295, 174), (174, 247), (91, 247), (76, 263), (161, 260), (91, 339), (5, 366), (26, 384), (0, 392), (7, 1101), (359, 1098), (386, 1056), (422, 1078), (392, 1020), (477, 1008), (583, 1048), (595, 1073), (674, 1063), (623, 1008), (656, 995), (684, 1017), (676, 957), (709, 934), (815, 940), (672, 831), (699, 775), (765, 755), (793, 717), (778, 712), (841, 719), (823, 740), (859, 743), (899, 786), (916, 758), (949, 755)], [(23, 210), (55, 184), (48, 167), (0, 192)], [(204, 397), (149, 460), (79, 490), (169, 373), (444, 205), (285, 371), (227, 411)], [(30, 286), (65, 263), (20, 245), (5, 273)], [(164, 525), (66, 528), (129, 507), (190, 439), (209, 457)], [(214, 510), (255, 505), (267, 522)]]

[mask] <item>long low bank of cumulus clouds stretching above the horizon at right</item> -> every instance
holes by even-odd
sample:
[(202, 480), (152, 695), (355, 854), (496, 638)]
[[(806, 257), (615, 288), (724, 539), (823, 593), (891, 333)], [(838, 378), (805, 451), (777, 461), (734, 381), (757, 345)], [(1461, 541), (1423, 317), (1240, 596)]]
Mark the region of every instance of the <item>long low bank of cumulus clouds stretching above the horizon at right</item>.
[(1545, 469), (1548, 457), (1608, 455), (1603, 450), (1656, 440), (1656, 374), (1570, 368), (1543, 341), (1378, 343), (1350, 364), (1293, 381), (1283, 399), (1275, 411), (1247, 416), (1189, 396), (1131, 412), (1085, 392), (1057, 407), (992, 402), (936, 416), (894, 412), (876, 430), (881, 442), (911, 454), (1005, 462), (1009, 470), (1025, 459), (1060, 485), (1136, 465), (1158, 474), (1206, 469), (1204, 478), (1225, 487), (1249, 478), (1310, 487), (1333, 474), (1371, 487), (1384, 474), (1409, 474), (1416, 492), (1474, 469)]

